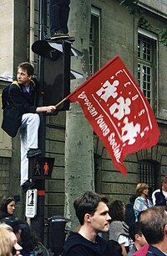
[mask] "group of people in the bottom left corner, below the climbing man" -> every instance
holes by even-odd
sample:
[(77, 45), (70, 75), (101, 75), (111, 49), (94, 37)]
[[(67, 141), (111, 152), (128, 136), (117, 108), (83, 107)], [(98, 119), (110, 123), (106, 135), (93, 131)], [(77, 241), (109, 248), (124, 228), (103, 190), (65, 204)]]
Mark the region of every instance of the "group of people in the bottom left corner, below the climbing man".
[(32, 228), (14, 216), (16, 200), (3, 199), (0, 206), (0, 256), (49, 256), (48, 249), (40, 243)]

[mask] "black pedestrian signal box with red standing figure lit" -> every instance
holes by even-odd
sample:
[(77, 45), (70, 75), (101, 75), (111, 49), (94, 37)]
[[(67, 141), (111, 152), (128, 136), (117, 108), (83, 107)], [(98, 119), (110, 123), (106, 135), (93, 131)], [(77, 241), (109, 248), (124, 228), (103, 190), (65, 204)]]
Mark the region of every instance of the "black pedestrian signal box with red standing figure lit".
[(51, 179), (54, 158), (34, 157), (29, 159), (29, 178), (34, 180)]

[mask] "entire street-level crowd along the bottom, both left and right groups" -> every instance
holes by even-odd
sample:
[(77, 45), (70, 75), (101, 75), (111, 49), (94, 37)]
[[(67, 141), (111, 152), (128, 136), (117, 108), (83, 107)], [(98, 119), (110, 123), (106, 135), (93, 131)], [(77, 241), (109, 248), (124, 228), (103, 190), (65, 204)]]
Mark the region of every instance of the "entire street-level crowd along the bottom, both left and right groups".
[[(59, 255), (167, 255), (167, 176), (151, 199), (148, 189), (147, 184), (139, 183), (126, 206), (119, 200), (109, 203), (94, 191), (78, 196), (73, 206), (80, 227), (69, 233)], [(0, 256), (49, 256), (28, 223), (14, 217), (15, 207), (13, 197), (4, 199), (0, 206)], [(108, 238), (103, 238), (104, 232)]]

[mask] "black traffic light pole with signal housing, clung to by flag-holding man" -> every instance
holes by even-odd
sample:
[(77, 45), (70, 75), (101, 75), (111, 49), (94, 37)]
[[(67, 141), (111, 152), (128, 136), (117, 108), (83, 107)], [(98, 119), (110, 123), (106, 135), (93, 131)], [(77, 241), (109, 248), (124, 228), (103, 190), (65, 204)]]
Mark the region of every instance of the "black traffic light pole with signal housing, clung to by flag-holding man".
[[(41, 86), (39, 91), (39, 106), (58, 104), (57, 111), (68, 110), (69, 100), (64, 101), (63, 99), (70, 93), (70, 79), (82, 76), (82, 74), (79, 74), (76, 71), (70, 71), (70, 56), (81, 56), (82, 53), (79, 52), (79, 50), (74, 49), (71, 46), (72, 42), (68, 39), (46, 39), (47, 1), (40, 0), (39, 6), (39, 40), (32, 45), (33, 52), (38, 55), (38, 78)], [(45, 115), (41, 114), (40, 118), (39, 147), (42, 149), (44, 155), (46, 137)], [(35, 180), (35, 177), (33, 177), (33, 179)], [(38, 237), (41, 242), (43, 242), (44, 229), (44, 180), (45, 179), (38, 180), (37, 215), (33, 217), (31, 223), (33, 230), (37, 232), (37, 235), (39, 234)]]

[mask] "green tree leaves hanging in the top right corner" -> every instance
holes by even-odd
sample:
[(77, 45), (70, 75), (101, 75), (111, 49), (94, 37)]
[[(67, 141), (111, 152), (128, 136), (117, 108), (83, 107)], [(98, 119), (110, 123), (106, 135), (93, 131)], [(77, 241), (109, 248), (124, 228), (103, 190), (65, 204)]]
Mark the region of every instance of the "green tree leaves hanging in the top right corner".
[[(124, 4), (126, 8), (129, 9), (130, 14), (139, 16), (139, 27), (149, 30), (153, 28), (149, 21), (144, 17), (144, 13), (141, 11), (141, 8), (139, 8), (139, 0), (119, 0), (119, 3)], [(167, 29), (157, 29), (157, 32), (159, 34), (159, 42), (167, 47)]]

